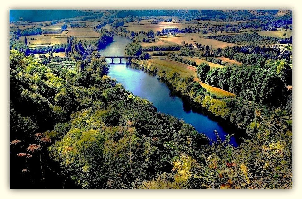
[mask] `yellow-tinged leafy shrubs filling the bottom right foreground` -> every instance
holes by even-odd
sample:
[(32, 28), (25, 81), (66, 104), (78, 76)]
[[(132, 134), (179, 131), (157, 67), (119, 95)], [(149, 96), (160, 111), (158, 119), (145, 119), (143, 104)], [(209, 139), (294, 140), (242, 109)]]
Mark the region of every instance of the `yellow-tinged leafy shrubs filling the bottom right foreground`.
[[(217, 142), (202, 151), (178, 142), (166, 145), (177, 154), (172, 159), (173, 173), (163, 173), (145, 181), (150, 189), (292, 189), (292, 132), (276, 111), (270, 118), (256, 112), (253, 123), (258, 133), (238, 148)], [(256, 160), (256, 161), (255, 161)]]

